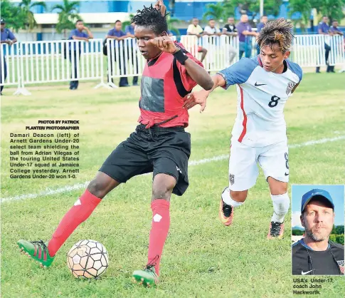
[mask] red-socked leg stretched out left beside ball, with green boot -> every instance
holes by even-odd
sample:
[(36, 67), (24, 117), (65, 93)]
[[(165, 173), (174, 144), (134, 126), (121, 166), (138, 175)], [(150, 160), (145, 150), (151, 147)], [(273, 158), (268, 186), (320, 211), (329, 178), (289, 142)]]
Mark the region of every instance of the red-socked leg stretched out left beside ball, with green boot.
[(49, 267), (54, 260), (56, 252), (58, 252), (78, 225), (87, 220), (102, 201), (102, 198), (119, 184), (119, 182), (110, 178), (107, 174), (98, 172), (95, 179), (87, 186), (83, 195), (60, 221), (49, 242), (45, 243), (42, 240), (32, 242), (19, 240), (19, 248), (33, 260), (38, 261), (41, 266)]

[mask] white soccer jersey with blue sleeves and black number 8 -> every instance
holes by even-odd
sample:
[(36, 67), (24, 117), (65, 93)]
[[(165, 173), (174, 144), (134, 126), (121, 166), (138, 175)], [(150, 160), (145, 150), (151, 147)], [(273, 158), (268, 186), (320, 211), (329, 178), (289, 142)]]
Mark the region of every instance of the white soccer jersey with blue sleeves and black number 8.
[(235, 140), (252, 147), (262, 147), (287, 140), (284, 106), (292, 88), (302, 80), (302, 69), (285, 60), (284, 73), (267, 72), (260, 55), (242, 58), (223, 71), (227, 89), (237, 84), (237, 117), (232, 135)]

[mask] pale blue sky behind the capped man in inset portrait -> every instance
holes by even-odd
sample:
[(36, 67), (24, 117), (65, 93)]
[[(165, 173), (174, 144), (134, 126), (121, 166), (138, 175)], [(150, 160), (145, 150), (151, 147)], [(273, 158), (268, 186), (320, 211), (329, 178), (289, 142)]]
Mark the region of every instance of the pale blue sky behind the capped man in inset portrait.
[(329, 192), (333, 199), (334, 212), (336, 213), (334, 225), (344, 225), (344, 185), (292, 185), (292, 227), (302, 227), (299, 220), (302, 196), (314, 188)]

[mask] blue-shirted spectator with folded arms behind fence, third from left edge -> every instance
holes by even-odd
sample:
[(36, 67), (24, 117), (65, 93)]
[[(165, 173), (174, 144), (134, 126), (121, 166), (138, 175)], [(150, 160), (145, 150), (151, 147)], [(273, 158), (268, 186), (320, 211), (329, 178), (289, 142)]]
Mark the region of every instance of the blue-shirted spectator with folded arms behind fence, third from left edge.
[[(124, 60), (124, 38), (127, 38), (127, 34), (124, 33), (124, 31), (121, 30), (122, 29), (122, 21), (120, 20), (117, 20), (115, 21), (115, 26), (113, 29), (111, 29), (106, 38), (112, 38), (112, 39), (115, 39), (115, 41), (119, 41), (118, 43), (115, 43), (115, 57), (114, 57), (114, 60), (115, 62), (116, 61), (116, 56), (119, 55), (119, 63), (118, 63), (118, 66), (119, 66), (119, 69), (120, 69), (120, 75), (122, 75), (122, 61), (124, 62), (124, 66), (123, 66), (123, 74), (126, 74), (126, 61)], [(119, 48), (122, 48), (122, 50), (120, 50), (121, 52), (119, 52)], [(123, 55), (123, 60), (121, 61), (121, 58), (120, 58), (120, 54), (122, 53)], [(113, 69), (113, 63), (114, 61), (112, 61), (112, 57), (110, 55), (108, 55), (108, 59), (110, 59), (110, 72), (108, 70), (108, 76), (109, 78), (111, 78), (111, 74), (112, 74), (112, 69)], [(108, 80), (109, 81), (109, 80)], [(114, 83), (113, 81), (113, 78), (112, 78), (112, 83)], [(120, 87), (128, 87), (128, 80), (127, 80), (127, 77), (125, 76), (122, 76), (120, 78), (120, 84), (119, 84)]]

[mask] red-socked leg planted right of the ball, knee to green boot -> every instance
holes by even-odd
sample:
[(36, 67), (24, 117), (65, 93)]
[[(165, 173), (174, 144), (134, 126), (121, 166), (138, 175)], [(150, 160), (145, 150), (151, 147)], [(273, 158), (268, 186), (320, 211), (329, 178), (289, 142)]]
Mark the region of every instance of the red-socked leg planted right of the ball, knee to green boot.
[(149, 235), (147, 265), (144, 269), (133, 272), (134, 281), (145, 286), (153, 286), (159, 282), (159, 262), (169, 232), (170, 197), (175, 185), (174, 176), (162, 173), (154, 176), (151, 202), (152, 228)]

